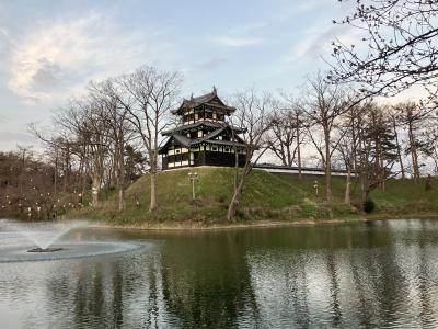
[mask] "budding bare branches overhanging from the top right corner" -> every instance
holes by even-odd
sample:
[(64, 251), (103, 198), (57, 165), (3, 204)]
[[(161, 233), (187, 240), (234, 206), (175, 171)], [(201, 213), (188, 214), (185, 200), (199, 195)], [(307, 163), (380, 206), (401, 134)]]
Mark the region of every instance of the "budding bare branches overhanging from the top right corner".
[(362, 32), (361, 42), (333, 43), (330, 78), (360, 83), (366, 95), (393, 95), (418, 84), (436, 102), (438, 2), (357, 0), (355, 7), (339, 23)]

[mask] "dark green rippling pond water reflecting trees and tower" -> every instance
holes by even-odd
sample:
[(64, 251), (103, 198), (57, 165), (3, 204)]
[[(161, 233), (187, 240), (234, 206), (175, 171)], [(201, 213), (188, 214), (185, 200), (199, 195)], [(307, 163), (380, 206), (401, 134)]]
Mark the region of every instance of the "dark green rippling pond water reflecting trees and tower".
[(136, 248), (0, 258), (1, 328), (438, 327), (438, 220), (62, 240)]

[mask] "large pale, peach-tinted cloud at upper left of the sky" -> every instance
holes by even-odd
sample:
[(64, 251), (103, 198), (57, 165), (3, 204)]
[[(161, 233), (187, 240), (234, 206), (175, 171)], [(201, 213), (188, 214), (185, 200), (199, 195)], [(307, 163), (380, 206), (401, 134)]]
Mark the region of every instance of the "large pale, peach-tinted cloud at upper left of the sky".
[(25, 103), (50, 103), (102, 79), (146, 64), (158, 31), (122, 29), (111, 15), (91, 12), (81, 18), (39, 25), (19, 38), (9, 53), (8, 88)]

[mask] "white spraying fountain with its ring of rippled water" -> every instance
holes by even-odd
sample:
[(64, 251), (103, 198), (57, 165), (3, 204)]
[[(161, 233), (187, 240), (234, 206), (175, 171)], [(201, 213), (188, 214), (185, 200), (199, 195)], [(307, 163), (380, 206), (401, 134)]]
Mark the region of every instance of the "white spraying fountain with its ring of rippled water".
[[(84, 220), (24, 223), (0, 220), (0, 262), (81, 258), (125, 252), (139, 243), (85, 238)], [(79, 234), (71, 235), (78, 230)]]

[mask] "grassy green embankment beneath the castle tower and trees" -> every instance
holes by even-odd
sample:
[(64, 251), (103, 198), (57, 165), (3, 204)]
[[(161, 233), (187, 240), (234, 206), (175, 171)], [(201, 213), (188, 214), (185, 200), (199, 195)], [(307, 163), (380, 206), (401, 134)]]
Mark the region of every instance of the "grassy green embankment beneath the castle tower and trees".
[[(159, 174), (158, 200), (160, 208), (148, 213), (149, 177), (142, 177), (126, 190), (126, 209), (118, 212), (117, 195), (111, 194), (96, 208), (72, 212), (69, 216), (81, 216), (117, 226), (211, 226), (227, 224), (227, 207), (233, 186), (233, 170), (224, 168), (198, 168), (199, 180), (196, 194), (199, 206), (191, 204), (192, 185), (187, 170), (168, 171)], [(319, 181), (320, 196), (314, 195), (313, 184)], [(320, 222), (327, 219), (359, 219), (364, 215), (343, 204), (345, 178), (333, 178), (334, 203), (324, 202), (324, 178), (279, 175), (254, 170), (247, 180), (238, 213), (238, 224), (275, 222)], [(353, 198), (358, 189), (353, 186)], [(135, 195), (140, 200), (136, 206)], [(425, 191), (424, 182), (387, 182), (387, 191), (371, 193), (377, 204), (373, 216), (438, 213), (438, 186)]]

